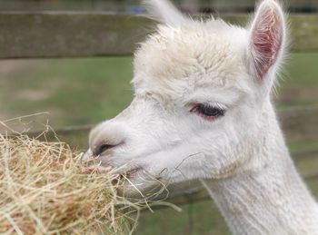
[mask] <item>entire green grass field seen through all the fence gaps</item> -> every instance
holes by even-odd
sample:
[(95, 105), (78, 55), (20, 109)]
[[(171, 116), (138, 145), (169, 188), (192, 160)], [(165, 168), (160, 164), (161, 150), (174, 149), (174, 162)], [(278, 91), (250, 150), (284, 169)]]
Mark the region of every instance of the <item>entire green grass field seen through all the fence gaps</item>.
[[(318, 54), (292, 54), (281, 81), (279, 107), (318, 103)], [(133, 98), (131, 57), (2, 61), (0, 120), (49, 112), (55, 127), (100, 122), (121, 112)], [(46, 118), (46, 117), (45, 117)], [(292, 151), (317, 146), (293, 142)], [(317, 157), (297, 159), (303, 173), (318, 169)], [(318, 181), (308, 181), (318, 197)], [(185, 205), (183, 212), (144, 212), (136, 234), (229, 234), (212, 201)]]

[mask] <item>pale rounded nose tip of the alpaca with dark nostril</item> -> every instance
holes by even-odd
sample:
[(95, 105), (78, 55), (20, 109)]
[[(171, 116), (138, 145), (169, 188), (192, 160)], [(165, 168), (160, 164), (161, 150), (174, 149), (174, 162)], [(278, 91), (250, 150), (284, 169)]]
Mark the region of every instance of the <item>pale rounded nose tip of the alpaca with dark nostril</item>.
[(125, 140), (123, 127), (117, 123), (104, 122), (90, 134), (90, 149), (94, 156), (115, 149)]

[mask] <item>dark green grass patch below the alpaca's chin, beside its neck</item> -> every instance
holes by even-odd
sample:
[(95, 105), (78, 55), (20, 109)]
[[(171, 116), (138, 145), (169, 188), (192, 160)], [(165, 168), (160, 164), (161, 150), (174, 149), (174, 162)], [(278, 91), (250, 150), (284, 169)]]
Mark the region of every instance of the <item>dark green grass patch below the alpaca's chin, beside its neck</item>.
[[(155, 209), (154, 209), (155, 210)], [(166, 208), (142, 213), (140, 235), (226, 235), (231, 234), (213, 201), (201, 201), (182, 206), (182, 212)]]

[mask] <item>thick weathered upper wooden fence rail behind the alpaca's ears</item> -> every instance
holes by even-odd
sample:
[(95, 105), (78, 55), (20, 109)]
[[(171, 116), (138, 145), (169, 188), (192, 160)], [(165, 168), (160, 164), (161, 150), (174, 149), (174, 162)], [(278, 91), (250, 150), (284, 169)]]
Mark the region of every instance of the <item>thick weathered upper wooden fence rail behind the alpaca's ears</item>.
[[(246, 24), (248, 15), (223, 15)], [(318, 51), (318, 15), (290, 15), (292, 50)], [(154, 31), (143, 16), (103, 13), (0, 13), (0, 58), (87, 57), (133, 54)]]

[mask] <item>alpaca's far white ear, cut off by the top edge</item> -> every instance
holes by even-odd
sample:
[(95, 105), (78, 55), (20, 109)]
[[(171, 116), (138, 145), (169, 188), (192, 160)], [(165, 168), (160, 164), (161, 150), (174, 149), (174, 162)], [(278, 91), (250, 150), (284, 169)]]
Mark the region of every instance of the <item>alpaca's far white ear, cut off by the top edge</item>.
[(155, 20), (169, 25), (184, 23), (184, 15), (179, 12), (168, 0), (144, 0), (144, 5)]

